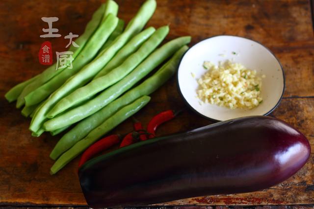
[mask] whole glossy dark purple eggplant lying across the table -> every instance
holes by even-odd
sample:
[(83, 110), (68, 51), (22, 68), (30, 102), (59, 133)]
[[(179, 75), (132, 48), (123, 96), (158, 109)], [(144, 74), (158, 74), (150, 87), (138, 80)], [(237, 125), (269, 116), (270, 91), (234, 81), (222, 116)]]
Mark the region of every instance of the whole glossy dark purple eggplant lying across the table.
[(78, 175), (92, 208), (144, 206), (265, 189), (295, 174), (310, 153), (287, 123), (248, 116), (132, 144), (86, 162)]

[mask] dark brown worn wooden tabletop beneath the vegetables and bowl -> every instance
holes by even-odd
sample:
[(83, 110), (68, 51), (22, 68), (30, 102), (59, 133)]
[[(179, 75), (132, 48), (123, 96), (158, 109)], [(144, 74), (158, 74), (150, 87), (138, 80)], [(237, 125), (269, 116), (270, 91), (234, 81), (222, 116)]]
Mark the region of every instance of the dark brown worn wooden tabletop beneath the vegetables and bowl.
[[(119, 17), (129, 21), (143, 0), (117, 0)], [(78, 184), (78, 159), (54, 176), (49, 174), (49, 154), (59, 136), (44, 134), (33, 138), (25, 118), (14, 104), (3, 97), (15, 84), (45, 69), (37, 53), (39, 37), (47, 23), (41, 17), (58, 17), (53, 26), (61, 38), (52, 42), (54, 51), (63, 51), (69, 32), (81, 34), (101, 0), (1, 0), (0, 1), (0, 205), (83, 206)], [(190, 46), (210, 36), (229, 34), (251, 38), (269, 47), (279, 58), (286, 74), (286, 90), (271, 116), (298, 128), (314, 150), (314, 35), (309, 0), (158, 0), (148, 25), (170, 24), (167, 40), (191, 35)], [(175, 78), (152, 94), (152, 101), (136, 118), (149, 118), (165, 109), (180, 109), (183, 100)], [(167, 134), (211, 122), (186, 111), (160, 127)], [(131, 120), (113, 132), (131, 131)], [(145, 192), (145, 191), (143, 191)], [(197, 197), (158, 204), (158, 206), (214, 205), (314, 205), (314, 155), (293, 177), (280, 185), (259, 192)], [(37, 205), (38, 206), (38, 205)]]

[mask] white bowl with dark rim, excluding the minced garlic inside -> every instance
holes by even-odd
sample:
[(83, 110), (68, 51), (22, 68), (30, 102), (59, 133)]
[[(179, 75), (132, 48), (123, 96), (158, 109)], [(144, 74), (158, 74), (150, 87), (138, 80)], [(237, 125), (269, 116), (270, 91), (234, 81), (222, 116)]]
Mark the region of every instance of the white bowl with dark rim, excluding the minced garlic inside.
[[(263, 102), (251, 110), (228, 109), (212, 104), (200, 104), (196, 98), (197, 78), (206, 70), (204, 61), (218, 65), (230, 60), (256, 70), (262, 79)], [(191, 73), (195, 74), (195, 78)], [(266, 116), (279, 104), (285, 89), (285, 75), (274, 54), (262, 44), (237, 36), (214, 36), (192, 46), (183, 56), (178, 69), (178, 88), (186, 104), (196, 113), (210, 120), (222, 121), (242, 116)]]

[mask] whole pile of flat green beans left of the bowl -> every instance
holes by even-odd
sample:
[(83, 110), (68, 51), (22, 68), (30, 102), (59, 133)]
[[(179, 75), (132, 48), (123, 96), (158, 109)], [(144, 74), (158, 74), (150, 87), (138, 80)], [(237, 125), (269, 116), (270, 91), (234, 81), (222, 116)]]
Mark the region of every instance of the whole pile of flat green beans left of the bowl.
[(50, 154), (56, 160), (51, 174), (143, 108), (150, 101), (148, 95), (173, 76), (188, 49), (189, 36), (157, 48), (169, 26), (143, 30), (155, 12), (156, 0), (146, 0), (126, 28), (117, 18), (118, 8), (115, 1), (107, 0), (95, 11), (75, 40), (79, 47), (69, 49), (74, 52), (72, 69), (70, 62), (58, 70), (53, 64), (5, 94), (9, 102), (17, 100), (17, 108), (24, 106), (21, 112), (31, 117), (32, 136), (65, 133)]

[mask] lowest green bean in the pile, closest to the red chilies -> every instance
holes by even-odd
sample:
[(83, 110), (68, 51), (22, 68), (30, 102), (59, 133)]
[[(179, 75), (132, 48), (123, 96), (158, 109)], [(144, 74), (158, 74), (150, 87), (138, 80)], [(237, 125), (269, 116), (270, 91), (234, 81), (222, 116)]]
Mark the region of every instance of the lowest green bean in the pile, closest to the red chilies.
[(84, 139), (78, 141), (71, 149), (66, 151), (60, 158), (52, 165), (50, 169), (51, 174), (55, 174), (67, 163), (77, 157), (81, 152), (87, 149), (91, 144), (100, 139), (102, 136), (111, 131), (114, 127), (126, 120), (128, 117), (134, 115), (140, 109), (142, 109), (149, 101), (151, 97), (142, 96), (135, 100), (131, 104), (125, 106), (113, 116), (109, 117), (104, 123), (90, 132)]

